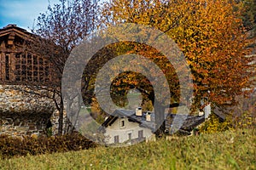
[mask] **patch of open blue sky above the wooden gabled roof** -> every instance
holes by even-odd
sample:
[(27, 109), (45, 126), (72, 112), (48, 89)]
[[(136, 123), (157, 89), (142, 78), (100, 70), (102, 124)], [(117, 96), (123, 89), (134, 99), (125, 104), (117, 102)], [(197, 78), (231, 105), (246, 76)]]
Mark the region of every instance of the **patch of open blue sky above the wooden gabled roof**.
[(0, 0), (0, 28), (16, 24), (26, 30), (32, 28), (34, 20), (47, 10), (48, 4), (59, 0)]

